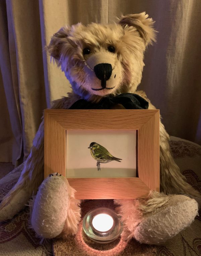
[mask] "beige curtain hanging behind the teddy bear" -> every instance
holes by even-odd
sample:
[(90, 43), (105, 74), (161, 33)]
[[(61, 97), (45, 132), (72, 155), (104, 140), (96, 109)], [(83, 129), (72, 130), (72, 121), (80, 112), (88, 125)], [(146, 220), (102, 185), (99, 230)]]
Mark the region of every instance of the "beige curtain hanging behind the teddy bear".
[(26, 159), (43, 109), (71, 90), (43, 50), (53, 33), (142, 11), (158, 35), (139, 89), (160, 109), (169, 134), (201, 144), (200, 0), (1, 0), (0, 162)]

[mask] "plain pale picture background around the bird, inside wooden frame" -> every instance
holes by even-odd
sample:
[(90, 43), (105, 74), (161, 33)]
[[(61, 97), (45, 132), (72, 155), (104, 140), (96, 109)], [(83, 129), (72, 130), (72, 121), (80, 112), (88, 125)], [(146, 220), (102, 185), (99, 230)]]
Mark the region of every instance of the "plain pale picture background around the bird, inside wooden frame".
[[(91, 142), (104, 146), (121, 163), (96, 161), (88, 148)], [(136, 177), (136, 131), (67, 130), (66, 177)]]

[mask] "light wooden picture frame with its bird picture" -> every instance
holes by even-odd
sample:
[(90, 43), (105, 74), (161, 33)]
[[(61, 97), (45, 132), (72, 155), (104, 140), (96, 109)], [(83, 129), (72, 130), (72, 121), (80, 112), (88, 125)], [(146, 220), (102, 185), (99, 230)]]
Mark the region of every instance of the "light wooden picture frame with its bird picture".
[(45, 110), (44, 177), (60, 173), (77, 199), (159, 191), (159, 110)]

